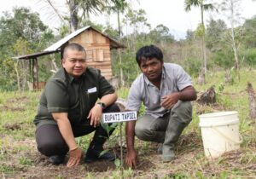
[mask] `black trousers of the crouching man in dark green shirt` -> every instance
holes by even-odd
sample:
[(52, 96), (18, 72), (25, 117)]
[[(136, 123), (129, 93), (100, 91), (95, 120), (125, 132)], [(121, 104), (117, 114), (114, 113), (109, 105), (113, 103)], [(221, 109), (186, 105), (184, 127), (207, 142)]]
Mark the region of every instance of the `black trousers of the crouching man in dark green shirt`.
[[(113, 104), (104, 109), (103, 113), (116, 113), (119, 111), (119, 107), (116, 104)], [(72, 126), (72, 130), (75, 137), (85, 136), (96, 131), (90, 145), (102, 146), (113, 133), (114, 128), (111, 128), (108, 133), (102, 128), (102, 125), (95, 128), (90, 125), (90, 120), (88, 120), (87, 123)], [(66, 155), (69, 150), (67, 143), (61, 136), (61, 132), (56, 124), (44, 124), (40, 126), (36, 130), (36, 141), (38, 151), (48, 157), (52, 155)]]

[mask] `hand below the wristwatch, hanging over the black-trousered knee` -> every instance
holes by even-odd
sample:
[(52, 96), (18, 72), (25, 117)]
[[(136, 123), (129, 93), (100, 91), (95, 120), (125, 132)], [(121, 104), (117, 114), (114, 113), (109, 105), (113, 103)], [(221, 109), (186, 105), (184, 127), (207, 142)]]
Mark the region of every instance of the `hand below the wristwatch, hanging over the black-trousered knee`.
[(90, 113), (87, 118), (90, 118), (90, 125), (93, 125), (94, 127), (99, 125), (102, 118), (102, 107), (96, 104), (90, 109)]

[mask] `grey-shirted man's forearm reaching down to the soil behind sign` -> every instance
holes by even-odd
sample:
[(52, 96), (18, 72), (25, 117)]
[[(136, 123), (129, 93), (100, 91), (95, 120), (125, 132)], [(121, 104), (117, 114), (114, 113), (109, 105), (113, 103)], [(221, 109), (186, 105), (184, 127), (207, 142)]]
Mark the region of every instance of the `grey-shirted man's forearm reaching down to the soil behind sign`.
[(125, 128), (127, 144), (127, 154), (125, 162), (131, 167), (137, 165), (137, 152), (134, 148), (135, 124), (136, 121), (129, 121), (126, 123)]

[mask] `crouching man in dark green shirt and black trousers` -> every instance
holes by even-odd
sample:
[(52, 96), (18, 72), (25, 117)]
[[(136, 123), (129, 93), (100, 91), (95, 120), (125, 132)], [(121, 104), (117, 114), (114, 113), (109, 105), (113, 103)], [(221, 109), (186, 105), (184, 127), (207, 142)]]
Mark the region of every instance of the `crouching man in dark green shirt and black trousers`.
[(54, 165), (63, 163), (69, 152), (67, 166), (79, 165), (82, 150), (75, 137), (96, 131), (85, 161), (115, 159), (113, 153), (100, 155), (114, 130), (108, 133), (102, 128), (102, 113), (119, 112), (113, 87), (99, 70), (86, 66), (85, 50), (77, 43), (67, 44), (61, 63), (62, 68), (45, 86), (34, 120), (38, 151)]

